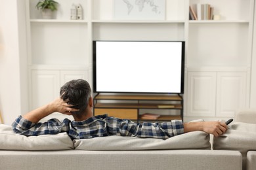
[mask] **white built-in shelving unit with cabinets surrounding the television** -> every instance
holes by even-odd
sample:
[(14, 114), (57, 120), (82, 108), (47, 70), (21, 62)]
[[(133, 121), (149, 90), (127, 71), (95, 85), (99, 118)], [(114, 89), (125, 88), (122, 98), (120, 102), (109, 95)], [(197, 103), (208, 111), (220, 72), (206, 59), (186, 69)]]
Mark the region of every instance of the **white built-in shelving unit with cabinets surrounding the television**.
[[(83, 73), (93, 82), (93, 40), (185, 41), (185, 121), (232, 117), (249, 105), (254, 0), (166, 0), (165, 20), (115, 20), (114, 0), (57, 1), (56, 19), (42, 20), (37, 1), (26, 0), (30, 109), (56, 97), (69, 78)], [(72, 3), (83, 7), (83, 20), (70, 20)], [(221, 20), (189, 20), (197, 3), (209, 3)]]

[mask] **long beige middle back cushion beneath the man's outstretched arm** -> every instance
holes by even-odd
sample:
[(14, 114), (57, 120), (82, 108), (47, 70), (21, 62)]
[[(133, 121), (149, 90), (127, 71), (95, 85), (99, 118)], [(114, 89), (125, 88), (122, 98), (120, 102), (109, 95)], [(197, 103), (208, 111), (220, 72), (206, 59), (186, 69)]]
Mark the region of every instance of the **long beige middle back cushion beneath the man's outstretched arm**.
[(75, 139), (77, 150), (155, 150), (155, 149), (210, 149), (209, 134), (192, 131), (169, 139), (108, 136)]

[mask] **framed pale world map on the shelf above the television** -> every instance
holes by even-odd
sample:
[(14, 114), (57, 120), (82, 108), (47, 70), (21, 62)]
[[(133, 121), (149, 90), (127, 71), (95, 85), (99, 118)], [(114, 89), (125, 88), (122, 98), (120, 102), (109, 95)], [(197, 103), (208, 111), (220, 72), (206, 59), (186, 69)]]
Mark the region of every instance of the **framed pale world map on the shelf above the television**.
[(116, 20), (165, 20), (165, 0), (114, 0)]

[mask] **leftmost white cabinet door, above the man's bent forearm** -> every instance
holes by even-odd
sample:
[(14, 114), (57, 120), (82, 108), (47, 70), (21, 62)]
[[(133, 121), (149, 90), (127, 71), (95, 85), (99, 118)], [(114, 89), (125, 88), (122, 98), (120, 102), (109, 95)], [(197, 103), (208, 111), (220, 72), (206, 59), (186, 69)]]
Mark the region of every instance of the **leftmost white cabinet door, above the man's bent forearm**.
[(31, 109), (45, 105), (58, 97), (59, 75), (59, 71), (32, 70)]

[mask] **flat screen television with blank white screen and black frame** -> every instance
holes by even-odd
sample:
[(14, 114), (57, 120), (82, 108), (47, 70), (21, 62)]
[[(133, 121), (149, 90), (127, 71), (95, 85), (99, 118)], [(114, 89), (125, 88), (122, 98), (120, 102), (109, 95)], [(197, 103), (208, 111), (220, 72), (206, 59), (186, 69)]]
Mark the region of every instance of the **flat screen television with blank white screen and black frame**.
[(183, 93), (184, 41), (93, 41), (96, 93)]

